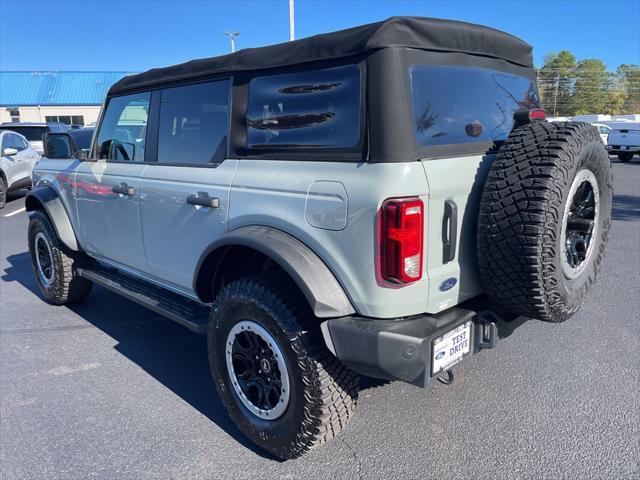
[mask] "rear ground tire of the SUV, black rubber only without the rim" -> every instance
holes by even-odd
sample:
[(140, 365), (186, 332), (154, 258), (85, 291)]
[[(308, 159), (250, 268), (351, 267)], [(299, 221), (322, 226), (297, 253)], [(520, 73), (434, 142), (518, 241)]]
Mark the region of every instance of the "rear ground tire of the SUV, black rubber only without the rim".
[[(230, 383), (225, 344), (233, 326), (252, 320), (276, 340), (290, 372), (289, 404), (281, 417), (254, 415)], [(281, 272), (227, 285), (211, 309), (211, 371), (230, 417), (254, 444), (279, 459), (296, 458), (338, 434), (353, 414), (359, 377), (326, 348), (307, 302)]]

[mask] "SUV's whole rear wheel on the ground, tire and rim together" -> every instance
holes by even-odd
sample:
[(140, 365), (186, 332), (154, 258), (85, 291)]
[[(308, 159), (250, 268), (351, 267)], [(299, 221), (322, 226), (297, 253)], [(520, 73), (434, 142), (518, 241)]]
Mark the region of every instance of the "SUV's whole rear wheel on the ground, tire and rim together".
[(325, 443), (352, 416), (358, 376), (326, 349), (317, 320), (283, 274), (225, 287), (211, 310), (208, 346), (232, 420), (280, 459)]

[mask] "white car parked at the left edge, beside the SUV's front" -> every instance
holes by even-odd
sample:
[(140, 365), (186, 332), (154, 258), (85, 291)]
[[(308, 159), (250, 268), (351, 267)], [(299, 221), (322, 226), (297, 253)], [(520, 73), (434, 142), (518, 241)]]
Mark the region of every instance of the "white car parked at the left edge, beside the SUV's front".
[(4, 208), (7, 192), (31, 186), (40, 155), (25, 137), (10, 130), (0, 131), (0, 153), (0, 208)]

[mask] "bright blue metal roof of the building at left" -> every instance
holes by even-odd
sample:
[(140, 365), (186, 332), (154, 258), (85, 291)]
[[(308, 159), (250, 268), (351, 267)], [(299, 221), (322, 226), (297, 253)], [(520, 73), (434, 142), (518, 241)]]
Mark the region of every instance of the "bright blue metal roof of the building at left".
[(0, 106), (101, 105), (132, 72), (0, 72)]

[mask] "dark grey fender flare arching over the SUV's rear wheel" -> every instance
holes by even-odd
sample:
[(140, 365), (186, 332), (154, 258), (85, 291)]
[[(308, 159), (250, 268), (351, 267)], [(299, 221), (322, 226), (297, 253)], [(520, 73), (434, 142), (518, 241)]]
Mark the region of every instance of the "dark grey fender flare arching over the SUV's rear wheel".
[(300, 240), (271, 227), (240, 227), (215, 241), (201, 255), (194, 290), (200, 267), (210, 253), (225, 246), (253, 248), (277, 263), (298, 285), (316, 317), (335, 318), (353, 315), (351, 305), (342, 286), (325, 263)]

